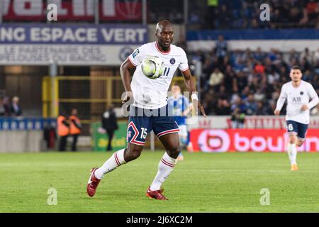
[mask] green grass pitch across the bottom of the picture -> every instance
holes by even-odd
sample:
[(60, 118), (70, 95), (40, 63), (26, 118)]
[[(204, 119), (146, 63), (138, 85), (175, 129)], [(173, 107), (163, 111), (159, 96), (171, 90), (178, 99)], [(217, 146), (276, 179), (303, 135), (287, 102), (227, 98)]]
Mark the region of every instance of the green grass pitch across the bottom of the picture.
[[(184, 155), (164, 183), (169, 201), (156, 201), (145, 191), (161, 152), (144, 151), (106, 175), (92, 198), (89, 170), (111, 153), (0, 154), (0, 212), (319, 212), (319, 153), (298, 154), (296, 172), (286, 153)], [(47, 204), (50, 188), (57, 205)]]

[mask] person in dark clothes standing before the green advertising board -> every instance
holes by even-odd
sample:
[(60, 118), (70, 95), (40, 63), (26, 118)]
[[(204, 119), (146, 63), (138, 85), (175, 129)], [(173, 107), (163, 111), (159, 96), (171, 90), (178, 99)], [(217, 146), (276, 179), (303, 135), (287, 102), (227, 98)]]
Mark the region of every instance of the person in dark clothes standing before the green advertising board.
[(116, 119), (116, 114), (114, 112), (114, 104), (108, 107), (108, 110), (103, 113), (102, 116), (102, 128), (106, 130), (108, 134), (108, 146), (106, 150), (112, 150), (112, 139), (114, 131), (118, 130), (118, 123)]

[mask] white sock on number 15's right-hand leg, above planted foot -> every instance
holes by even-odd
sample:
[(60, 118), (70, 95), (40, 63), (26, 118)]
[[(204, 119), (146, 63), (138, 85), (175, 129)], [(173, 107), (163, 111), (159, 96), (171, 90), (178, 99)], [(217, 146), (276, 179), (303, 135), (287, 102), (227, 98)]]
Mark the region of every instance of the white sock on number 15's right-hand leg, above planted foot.
[(169, 174), (174, 170), (175, 164), (177, 163), (177, 159), (173, 157), (169, 157), (167, 153), (164, 153), (162, 160), (159, 161), (158, 171), (155, 179), (150, 185), (151, 191), (156, 191), (161, 188), (161, 185), (167, 179)]

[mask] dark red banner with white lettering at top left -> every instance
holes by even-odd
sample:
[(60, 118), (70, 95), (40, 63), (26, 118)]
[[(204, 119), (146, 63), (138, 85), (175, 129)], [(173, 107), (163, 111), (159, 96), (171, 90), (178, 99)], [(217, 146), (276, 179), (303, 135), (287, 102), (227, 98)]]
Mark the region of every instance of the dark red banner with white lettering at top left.
[[(50, 1), (57, 6), (57, 21), (94, 21), (94, 1)], [(46, 0), (3, 0), (4, 21), (45, 21)], [(101, 21), (142, 21), (142, 1), (108, 1), (99, 4)]]

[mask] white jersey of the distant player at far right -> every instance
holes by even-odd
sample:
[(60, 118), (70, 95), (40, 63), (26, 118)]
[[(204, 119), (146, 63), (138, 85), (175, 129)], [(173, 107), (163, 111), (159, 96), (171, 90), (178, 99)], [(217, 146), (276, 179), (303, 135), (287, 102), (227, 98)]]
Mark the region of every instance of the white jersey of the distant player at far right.
[[(318, 94), (313, 86), (301, 80), (299, 87), (293, 87), (292, 82), (288, 82), (281, 87), (281, 93), (277, 101), (276, 110), (281, 110), (287, 99), (286, 121), (296, 121), (308, 124), (310, 109), (318, 104)], [(310, 102), (309, 100), (312, 99)], [(308, 106), (307, 111), (301, 111), (301, 106)]]

